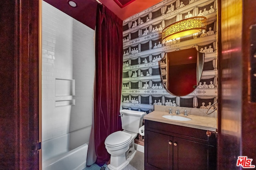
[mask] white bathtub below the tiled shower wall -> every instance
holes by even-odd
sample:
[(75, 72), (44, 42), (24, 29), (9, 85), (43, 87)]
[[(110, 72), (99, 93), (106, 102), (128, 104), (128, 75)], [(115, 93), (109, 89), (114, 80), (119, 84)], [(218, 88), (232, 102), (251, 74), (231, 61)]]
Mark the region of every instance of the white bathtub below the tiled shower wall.
[[(61, 137), (60, 140), (63, 138), (64, 137)], [(49, 144), (46, 143), (46, 146), (47, 145)], [(58, 146), (56, 147), (58, 148)], [(56, 147), (52, 146), (52, 150), (56, 149)], [(84, 144), (76, 149), (58, 154), (52, 158), (43, 155), (42, 168), (43, 170), (82, 170), (86, 167), (87, 151), (88, 145)], [(56, 152), (58, 152), (58, 150), (56, 150)], [(47, 160), (44, 160), (44, 158)]]

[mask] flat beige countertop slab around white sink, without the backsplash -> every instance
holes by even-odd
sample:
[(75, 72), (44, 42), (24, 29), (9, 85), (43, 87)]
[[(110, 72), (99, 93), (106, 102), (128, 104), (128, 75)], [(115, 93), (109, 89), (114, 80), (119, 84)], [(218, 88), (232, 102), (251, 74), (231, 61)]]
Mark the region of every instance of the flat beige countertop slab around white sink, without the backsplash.
[(190, 121), (178, 121), (178, 120), (170, 120), (162, 117), (163, 115), (176, 115), (175, 113), (170, 114), (168, 112), (163, 111), (152, 111), (144, 116), (145, 120), (157, 121), (162, 123), (169, 123), (173, 125), (180, 125), (185, 127), (192, 127), (196, 129), (203, 129), (209, 131), (216, 131), (217, 128), (217, 120), (215, 117), (207, 117), (207, 116), (198, 116), (198, 115), (188, 115), (184, 116), (182, 113), (181, 117), (188, 117), (192, 120)]

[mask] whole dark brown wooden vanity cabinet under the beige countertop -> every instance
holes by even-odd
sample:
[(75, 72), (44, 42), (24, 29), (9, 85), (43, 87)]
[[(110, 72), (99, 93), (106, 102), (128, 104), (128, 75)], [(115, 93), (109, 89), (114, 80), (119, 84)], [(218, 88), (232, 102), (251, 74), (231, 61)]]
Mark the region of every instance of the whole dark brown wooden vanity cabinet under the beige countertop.
[(215, 134), (145, 120), (145, 169), (215, 170)]

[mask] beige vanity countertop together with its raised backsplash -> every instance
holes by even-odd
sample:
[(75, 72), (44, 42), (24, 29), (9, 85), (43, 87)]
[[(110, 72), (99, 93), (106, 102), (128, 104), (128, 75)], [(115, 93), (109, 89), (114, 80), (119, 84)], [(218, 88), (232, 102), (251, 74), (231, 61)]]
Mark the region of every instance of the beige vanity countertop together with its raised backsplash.
[[(172, 108), (173, 114), (169, 113), (169, 109)], [(180, 125), (185, 127), (192, 127), (196, 129), (202, 130), (209, 130), (209, 131), (216, 131), (217, 128), (217, 120), (216, 120), (216, 111), (212, 113), (213, 115), (206, 115), (207, 109), (196, 109), (196, 108), (189, 108), (189, 107), (170, 107), (170, 106), (155, 106), (154, 111), (145, 115), (145, 120), (157, 121), (161, 123), (168, 123), (173, 125)], [(190, 121), (177, 121), (177, 120), (170, 120), (162, 117), (163, 115), (176, 115), (175, 111), (179, 109), (181, 117), (188, 117), (192, 120)], [(188, 110), (188, 116), (184, 116), (184, 110)]]

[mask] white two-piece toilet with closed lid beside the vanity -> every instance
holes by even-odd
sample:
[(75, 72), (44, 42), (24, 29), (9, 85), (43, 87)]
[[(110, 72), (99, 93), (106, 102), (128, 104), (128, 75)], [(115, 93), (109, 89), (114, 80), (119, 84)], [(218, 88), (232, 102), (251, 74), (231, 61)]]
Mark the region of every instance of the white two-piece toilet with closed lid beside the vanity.
[(120, 116), (123, 131), (117, 131), (108, 135), (105, 147), (110, 156), (110, 170), (122, 170), (134, 157), (134, 139), (142, 126), (143, 116), (146, 112), (122, 109)]

